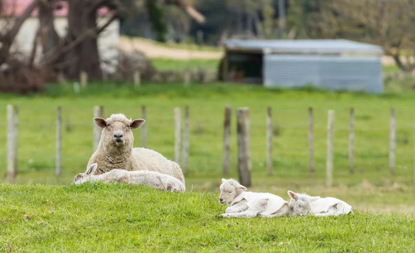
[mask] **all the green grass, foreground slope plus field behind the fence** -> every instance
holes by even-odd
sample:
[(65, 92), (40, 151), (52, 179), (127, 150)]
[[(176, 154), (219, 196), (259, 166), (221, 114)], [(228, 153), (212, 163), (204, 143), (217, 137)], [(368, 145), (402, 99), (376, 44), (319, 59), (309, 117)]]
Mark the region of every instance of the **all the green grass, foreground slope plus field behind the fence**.
[[(413, 93), (264, 89), (239, 85), (91, 84), (75, 94), (52, 85), (42, 95), (0, 94), (0, 156), (6, 105), (19, 106), (17, 185), (0, 184), (0, 252), (413, 252)], [(93, 143), (93, 106), (104, 116), (140, 118), (147, 147), (174, 158), (174, 107), (190, 106), (186, 193), (146, 186), (69, 186)], [(232, 105), (230, 175), (222, 173), (223, 110)], [(62, 177), (56, 179), (55, 112), (62, 106)], [(222, 177), (237, 178), (234, 110), (250, 108), (251, 191), (288, 200), (291, 189), (335, 196), (353, 216), (221, 219)], [(266, 107), (273, 107), (273, 175), (266, 175)], [(308, 107), (314, 107), (315, 179), (308, 177)], [(349, 107), (356, 110), (355, 173), (349, 174)], [(396, 175), (389, 176), (389, 110), (396, 109)], [(335, 110), (334, 186), (326, 188), (327, 111)], [(140, 146), (140, 129), (135, 130)], [(6, 182), (6, 159), (0, 182)]]

